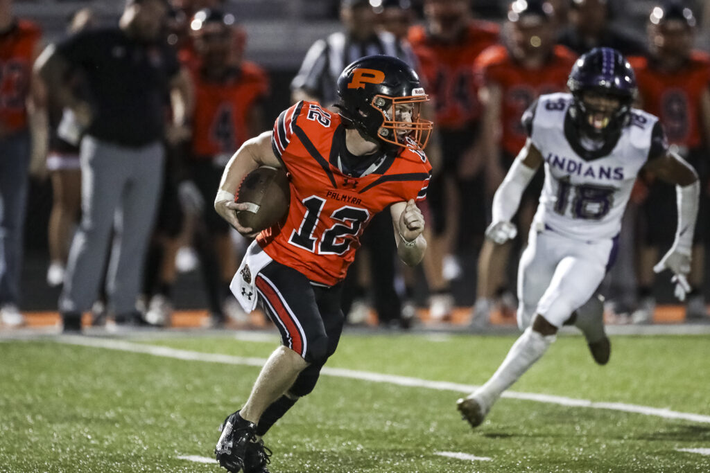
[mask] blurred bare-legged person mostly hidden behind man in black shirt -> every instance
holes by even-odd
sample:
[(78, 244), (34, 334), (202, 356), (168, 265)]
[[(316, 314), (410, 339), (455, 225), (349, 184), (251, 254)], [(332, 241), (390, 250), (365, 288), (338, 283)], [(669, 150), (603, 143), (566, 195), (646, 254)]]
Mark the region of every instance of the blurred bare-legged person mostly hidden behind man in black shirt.
[[(79, 9), (70, 16), (67, 33), (78, 33), (96, 23), (92, 9)], [(80, 87), (79, 84), (77, 87)], [(48, 118), (50, 135), (47, 170), (52, 181), (52, 211), (48, 226), (50, 265), (47, 269), (47, 284), (59, 286), (64, 282), (69, 245), (81, 212), (79, 142), (82, 130), (69, 109), (62, 110), (48, 104)]]

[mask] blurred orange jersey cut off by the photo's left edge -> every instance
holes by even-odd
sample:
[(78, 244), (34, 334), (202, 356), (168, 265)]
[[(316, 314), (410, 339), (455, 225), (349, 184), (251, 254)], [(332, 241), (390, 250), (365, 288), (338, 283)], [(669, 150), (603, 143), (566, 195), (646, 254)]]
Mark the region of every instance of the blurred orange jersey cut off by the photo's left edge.
[(42, 32), (31, 21), (18, 20), (0, 35), (0, 128), (13, 132), (27, 126), (33, 55)]

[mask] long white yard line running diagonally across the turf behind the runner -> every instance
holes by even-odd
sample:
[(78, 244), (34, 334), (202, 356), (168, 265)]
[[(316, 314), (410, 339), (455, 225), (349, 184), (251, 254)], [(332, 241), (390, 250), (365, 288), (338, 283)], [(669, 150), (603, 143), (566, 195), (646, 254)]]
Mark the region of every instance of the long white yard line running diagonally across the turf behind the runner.
[[(109, 350), (121, 350), (124, 352), (133, 353), (146, 353), (147, 355), (176, 358), (178, 360), (224, 363), (225, 365), (246, 365), (261, 367), (266, 362), (266, 359), (264, 358), (236, 357), (232, 355), (219, 355), (218, 353), (192, 352), (190, 350), (178, 350), (176, 348), (160, 347), (157, 345), (143, 345), (141, 343), (132, 343), (127, 342), (125, 340), (116, 340), (110, 338), (89, 338), (77, 335), (62, 335), (58, 338), (55, 338), (55, 340), (70, 345), (107, 348)], [(346, 368), (324, 367), (321, 371), (321, 374), (333, 377), (361, 379), (364, 381), (376, 383), (396, 384), (398, 386), (436, 389), (438, 391), (456, 391), (466, 394), (474, 391), (476, 388), (479, 387), (471, 384), (459, 384), (447, 381), (430, 381), (427, 379), (420, 379), (414, 377), (397, 376), (396, 374), (373, 373)], [(701, 414), (687, 412), (671, 411), (670, 409), (665, 408), (638, 406), (635, 404), (624, 404), (616, 402), (593, 402), (586, 399), (574, 399), (564, 396), (551, 396), (550, 394), (522, 393), (516, 391), (506, 391), (503, 393), (503, 397), (508, 397), (511, 399), (524, 399), (526, 401), (544, 402), (548, 404), (559, 404), (561, 406), (610, 409), (612, 411), (639, 413), (645, 416), (657, 416), (667, 419), (682, 419), (684, 421), (710, 423), (710, 416), (703, 416)]]

